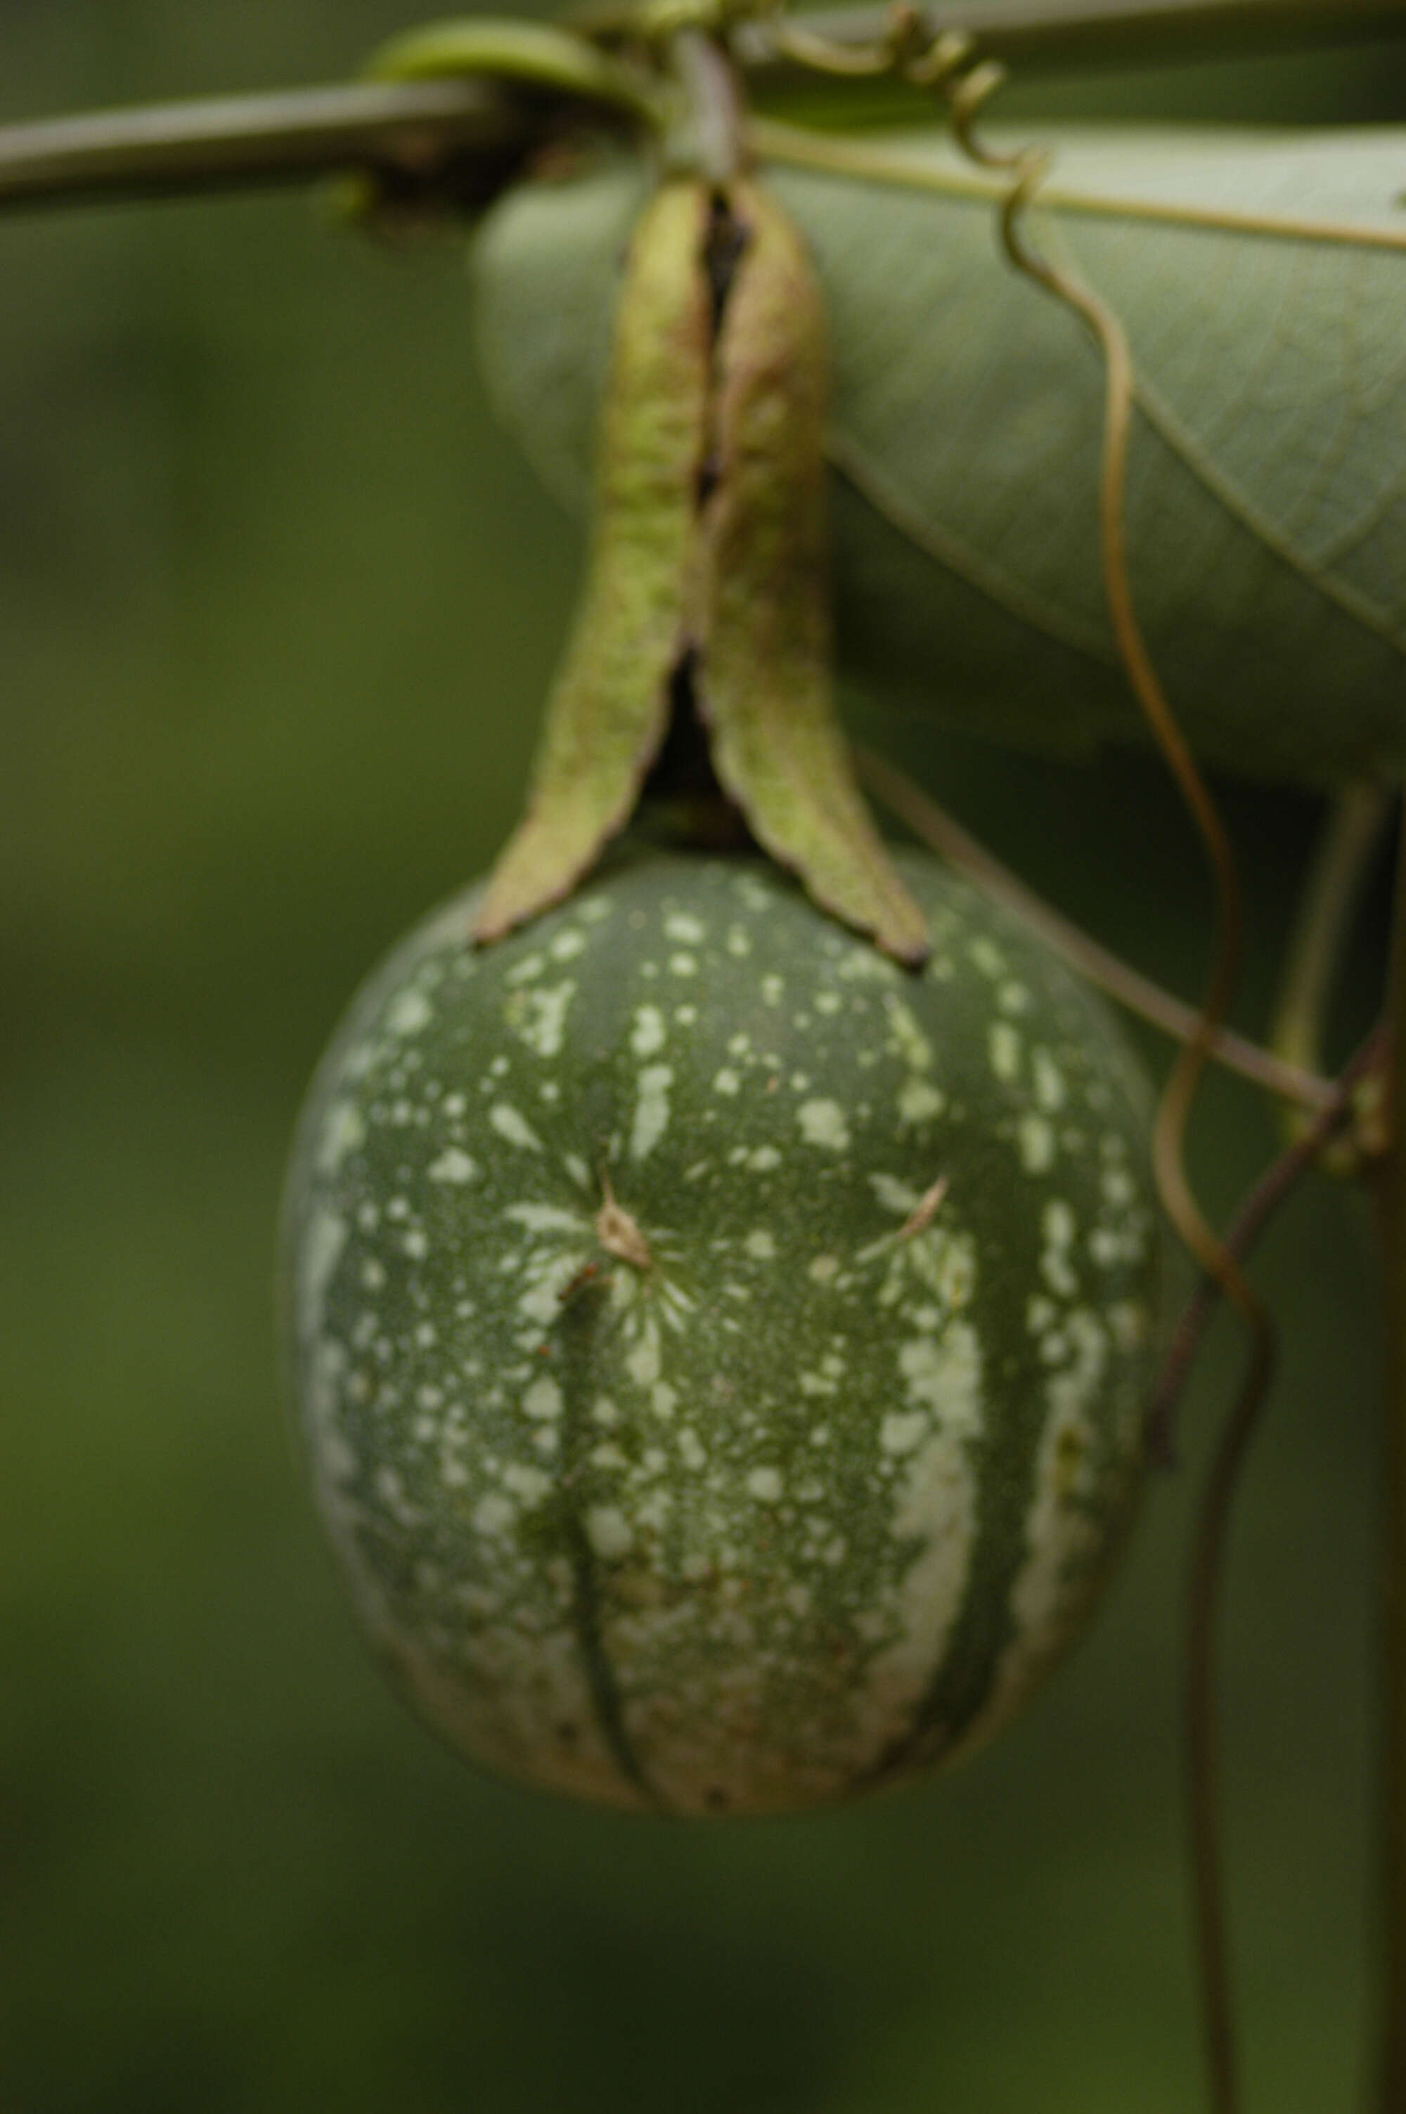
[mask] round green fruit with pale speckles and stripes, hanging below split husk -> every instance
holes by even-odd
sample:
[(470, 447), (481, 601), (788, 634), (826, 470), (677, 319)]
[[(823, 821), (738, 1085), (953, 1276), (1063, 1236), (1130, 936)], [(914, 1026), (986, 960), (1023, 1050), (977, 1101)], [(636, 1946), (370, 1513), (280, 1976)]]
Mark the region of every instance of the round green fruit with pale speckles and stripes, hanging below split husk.
[(901, 856), (905, 972), (761, 860), (474, 892), (355, 1000), (288, 1226), (302, 1421), (370, 1640), (554, 1791), (780, 1812), (987, 1733), (1142, 1459), (1148, 1101), (1015, 920)]

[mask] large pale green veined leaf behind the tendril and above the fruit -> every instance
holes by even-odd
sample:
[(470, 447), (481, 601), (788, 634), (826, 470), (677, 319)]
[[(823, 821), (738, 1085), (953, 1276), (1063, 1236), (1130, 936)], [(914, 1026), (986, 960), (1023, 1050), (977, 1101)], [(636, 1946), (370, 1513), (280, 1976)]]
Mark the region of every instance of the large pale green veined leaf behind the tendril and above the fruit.
[[(848, 676), (1028, 744), (1137, 736), (1102, 600), (1091, 338), (1004, 260), (994, 186), (945, 142), (759, 137), (831, 309)], [(1188, 736), (1262, 776), (1395, 774), (1406, 131), (1055, 144), (1032, 233), (1131, 334), (1133, 586)], [(493, 393), (573, 505), (641, 184), (524, 188), (476, 245)]]

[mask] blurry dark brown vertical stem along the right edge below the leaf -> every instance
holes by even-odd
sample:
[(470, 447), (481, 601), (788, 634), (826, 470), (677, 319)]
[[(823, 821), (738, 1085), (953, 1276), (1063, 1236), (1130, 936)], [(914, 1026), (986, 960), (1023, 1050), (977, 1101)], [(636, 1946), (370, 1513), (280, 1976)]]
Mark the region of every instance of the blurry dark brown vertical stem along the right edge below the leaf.
[(1385, 1323), (1381, 1698), (1381, 2114), (1406, 2110), (1406, 831), (1387, 983), (1387, 1150), (1376, 1161)]

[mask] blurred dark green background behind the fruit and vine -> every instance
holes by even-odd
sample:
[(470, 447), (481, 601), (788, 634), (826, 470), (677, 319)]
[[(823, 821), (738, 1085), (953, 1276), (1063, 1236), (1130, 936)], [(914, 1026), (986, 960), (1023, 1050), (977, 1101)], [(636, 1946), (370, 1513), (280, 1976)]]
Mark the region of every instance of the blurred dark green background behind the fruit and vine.
[[(400, 0), (0, 0), (0, 116), (338, 78)], [(1402, 116), (1400, 49), (1013, 114)], [(0, 222), (0, 2110), (1171, 2114), (1188, 1461), (1002, 1742), (839, 1816), (670, 1826), (469, 1774), (383, 1693), (279, 1402), (273, 1224), (353, 983), (507, 829), (575, 531), (495, 433), (459, 247), (300, 197)], [(1146, 759), (861, 715), (1178, 987), (1207, 898)], [(1315, 808), (1228, 789), (1262, 1025)], [(1385, 911), (1349, 977), (1368, 1019)], [(1165, 1051), (1150, 1038), (1148, 1055)], [(1224, 1211), (1273, 1150), (1216, 1082)], [(1372, 1264), (1315, 1182), (1224, 1624), (1247, 2106), (1359, 2099)]]

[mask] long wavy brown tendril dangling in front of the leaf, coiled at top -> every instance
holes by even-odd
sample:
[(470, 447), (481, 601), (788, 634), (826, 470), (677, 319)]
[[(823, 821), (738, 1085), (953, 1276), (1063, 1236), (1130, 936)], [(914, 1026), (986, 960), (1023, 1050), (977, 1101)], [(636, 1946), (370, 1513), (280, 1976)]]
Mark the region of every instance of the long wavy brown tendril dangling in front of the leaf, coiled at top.
[(1275, 1332), (1264, 1304), (1245, 1281), (1231, 1249), (1216, 1237), (1186, 1177), (1186, 1123), (1201, 1074), (1211, 1055), (1216, 1030), (1224, 1023), (1241, 951), (1241, 894), (1235, 856), (1211, 795), (1186, 746), (1171, 704), (1152, 666), (1133, 607), (1127, 569), (1127, 444), (1133, 408), (1133, 361), (1127, 332), (1112, 309), (1089, 288), (1055, 271), (1028, 247), (1021, 230), (1025, 209), (1044, 182), (1049, 154), (994, 154), (975, 135), (977, 112), (1004, 80), (1004, 68), (973, 68), (949, 89), (951, 125), (960, 146), (987, 169), (1009, 169), (1011, 190), (1000, 207), (1000, 233), (1017, 271), (1061, 300), (1093, 334), (1104, 355), (1104, 459), (1099, 471), (1099, 541), (1104, 596), (1123, 668), (1171, 772), (1186, 810), (1205, 846), (1216, 879), (1218, 939), (1211, 977), (1195, 1034), (1182, 1049), (1163, 1089), (1152, 1129), (1152, 1169), (1163, 1207), (1201, 1268), (1239, 1311), (1250, 1330), (1250, 1366), (1235, 1410), (1222, 1431), (1203, 1495), (1201, 1520), (1188, 1581), (1186, 1643), (1186, 1769), (1192, 1869), (1197, 1894), (1201, 2008), (1207, 2082), (1214, 2114), (1235, 2114), (1235, 2013), (1226, 1960), (1220, 1839), (1216, 1816), (1216, 1706), (1214, 1706), (1214, 1617), (1220, 1590), (1222, 1550), (1239, 1471), (1254, 1438), (1260, 1408), (1275, 1370)]

